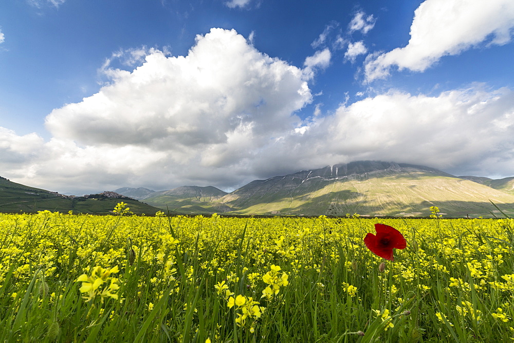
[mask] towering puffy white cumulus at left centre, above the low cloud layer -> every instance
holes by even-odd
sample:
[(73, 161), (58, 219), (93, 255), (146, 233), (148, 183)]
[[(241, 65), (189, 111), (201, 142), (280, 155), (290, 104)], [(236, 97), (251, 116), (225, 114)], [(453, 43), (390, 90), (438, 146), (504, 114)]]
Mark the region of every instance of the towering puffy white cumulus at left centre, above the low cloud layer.
[(153, 51), (94, 96), (53, 110), (46, 126), (86, 145), (227, 144), (248, 126), (255, 135), (282, 131), (310, 98), (301, 69), (260, 53), (234, 30), (212, 29), (187, 56)]

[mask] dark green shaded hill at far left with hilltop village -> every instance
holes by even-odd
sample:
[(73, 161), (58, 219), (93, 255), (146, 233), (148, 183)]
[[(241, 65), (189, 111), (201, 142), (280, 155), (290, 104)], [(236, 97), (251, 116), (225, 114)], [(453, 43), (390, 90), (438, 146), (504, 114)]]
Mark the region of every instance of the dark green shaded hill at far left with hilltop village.
[(36, 213), (48, 209), (52, 212), (109, 214), (119, 202), (125, 202), (135, 214), (153, 215), (159, 208), (113, 192), (103, 192), (83, 197), (65, 196), (49, 190), (29, 187), (0, 177), (0, 212)]

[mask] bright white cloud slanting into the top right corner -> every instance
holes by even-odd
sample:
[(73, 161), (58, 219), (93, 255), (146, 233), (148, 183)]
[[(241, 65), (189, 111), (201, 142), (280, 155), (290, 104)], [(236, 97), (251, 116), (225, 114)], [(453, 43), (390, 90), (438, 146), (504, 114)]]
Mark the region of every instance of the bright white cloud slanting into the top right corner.
[(488, 42), (506, 44), (514, 28), (511, 0), (426, 0), (414, 12), (409, 44), (366, 58), (367, 82), (385, 78), (392, 66), (424, 71), (442, 56)]

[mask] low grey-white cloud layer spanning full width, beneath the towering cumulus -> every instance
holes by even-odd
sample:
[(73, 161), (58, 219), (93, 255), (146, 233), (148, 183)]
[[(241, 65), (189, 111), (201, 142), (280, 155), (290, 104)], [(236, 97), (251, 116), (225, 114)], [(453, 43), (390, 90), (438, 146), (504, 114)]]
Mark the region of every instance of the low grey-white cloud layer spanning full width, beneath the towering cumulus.
[(256, 134), (259, 124), (246, 122), (228, 131), (223, 143), (79, 146), (53, 138), (43, 144), (34, 134), (17, 137), (3, 129), (0, 150), (7, 158), (0, 166), (17, 182), (56, 190), (83, 184), (91, 192), (185, 184), (230, 189), (257, 178), (370, 159), (428, 165), (457, 175), (511, 176), (513, 119), (514, 91), (509, 88), (473, 85), (438, 96), (391, 90), (341, 105), (332, 115), (289, 123), (270, 135)]

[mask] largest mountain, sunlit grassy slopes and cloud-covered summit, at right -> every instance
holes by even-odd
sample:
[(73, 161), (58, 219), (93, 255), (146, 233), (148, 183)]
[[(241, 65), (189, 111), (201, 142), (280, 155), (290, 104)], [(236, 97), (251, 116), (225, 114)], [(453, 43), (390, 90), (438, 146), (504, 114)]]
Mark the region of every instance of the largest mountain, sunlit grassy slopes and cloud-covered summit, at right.
[(440, 170), (403, 163), (359, 161), (255, 180), (217, 202), (240, 214), (450, 216), (512, 211), (514, 195)]

